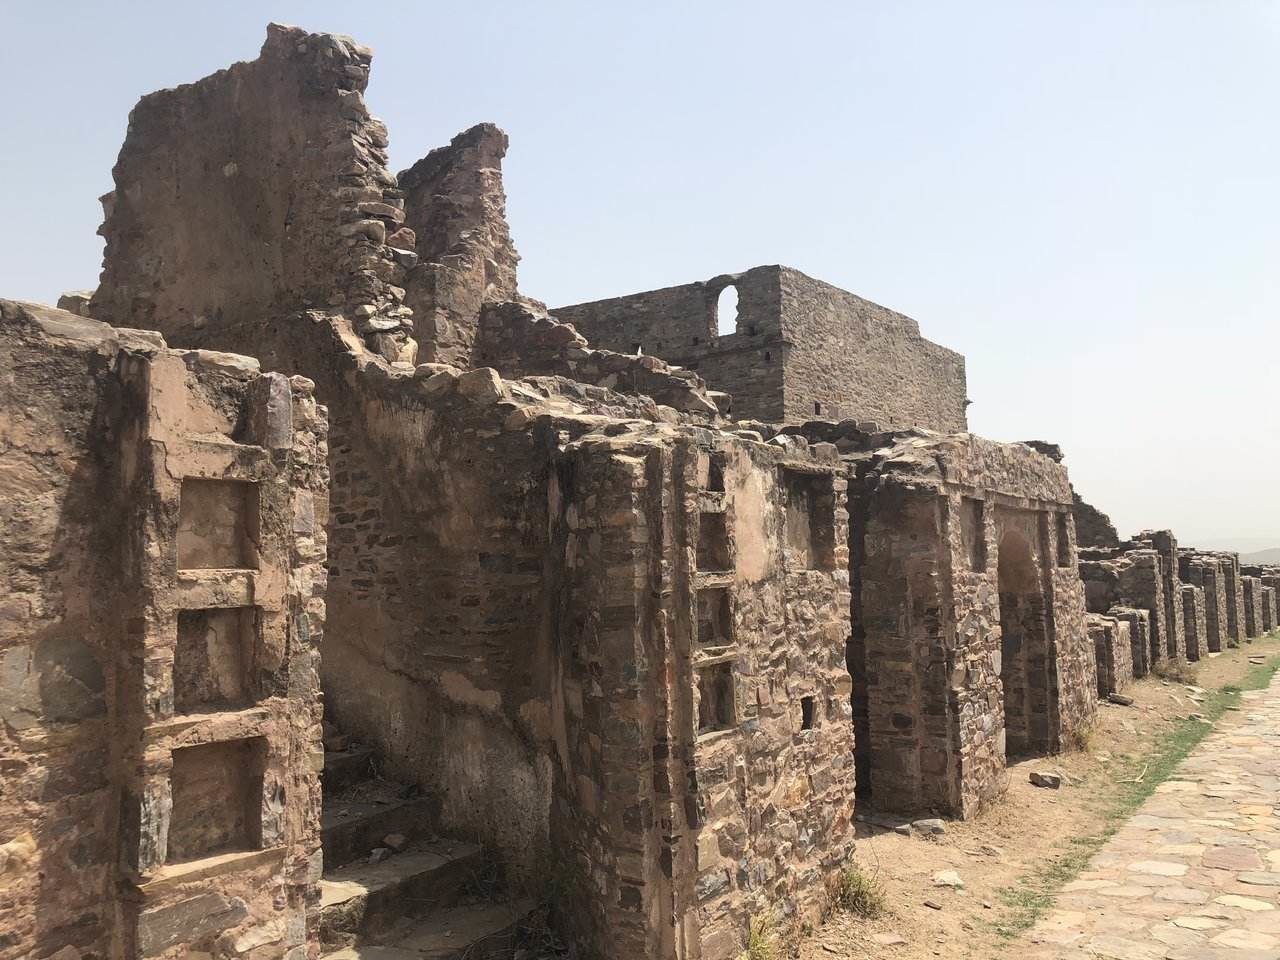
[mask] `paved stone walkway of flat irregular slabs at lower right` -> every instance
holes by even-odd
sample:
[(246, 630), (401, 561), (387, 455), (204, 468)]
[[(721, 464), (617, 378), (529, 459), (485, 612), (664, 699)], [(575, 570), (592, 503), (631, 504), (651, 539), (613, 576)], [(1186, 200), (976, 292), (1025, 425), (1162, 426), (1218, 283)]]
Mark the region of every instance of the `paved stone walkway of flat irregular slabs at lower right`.
[(1027, 960), (1280, 959), (1280, 675), (1244, 694), (1027, 936)]

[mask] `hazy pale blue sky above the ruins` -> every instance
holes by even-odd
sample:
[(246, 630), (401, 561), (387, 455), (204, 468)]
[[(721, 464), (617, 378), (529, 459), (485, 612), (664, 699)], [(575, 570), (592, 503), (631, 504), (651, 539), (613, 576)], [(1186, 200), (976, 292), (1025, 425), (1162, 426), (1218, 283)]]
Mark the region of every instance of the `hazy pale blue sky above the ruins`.
[(15, 3), (0, 296), (92, 287), (147, 91), (268, 20), (374, 47), (392, 166), (511, 134), (549, 303), (783, 262), (969, 362), (1121, 534), (1280, 545), (1280, 3)]

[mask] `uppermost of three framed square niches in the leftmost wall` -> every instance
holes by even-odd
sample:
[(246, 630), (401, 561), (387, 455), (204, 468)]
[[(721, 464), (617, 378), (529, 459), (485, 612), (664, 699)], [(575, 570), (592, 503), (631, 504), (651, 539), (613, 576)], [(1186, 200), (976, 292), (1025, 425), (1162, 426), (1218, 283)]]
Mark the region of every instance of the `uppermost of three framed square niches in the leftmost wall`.
[(178, 568), (257, 568), (257, 484), (242, 480), (182, 481)]

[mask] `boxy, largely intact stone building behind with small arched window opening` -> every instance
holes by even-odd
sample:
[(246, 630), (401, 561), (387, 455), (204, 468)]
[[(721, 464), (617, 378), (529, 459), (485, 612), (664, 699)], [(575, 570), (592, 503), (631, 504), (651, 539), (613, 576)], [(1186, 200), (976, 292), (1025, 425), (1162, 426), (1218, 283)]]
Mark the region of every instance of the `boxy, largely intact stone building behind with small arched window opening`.
[[(733, 333), (717, 335), (717, 298), (737, 291)], [(618, 352), (705, 371), (733, 416), (882, 426), (966, 428), (964, 357), (910, 317), (786, 266), (559, 307), (552, 314)]]

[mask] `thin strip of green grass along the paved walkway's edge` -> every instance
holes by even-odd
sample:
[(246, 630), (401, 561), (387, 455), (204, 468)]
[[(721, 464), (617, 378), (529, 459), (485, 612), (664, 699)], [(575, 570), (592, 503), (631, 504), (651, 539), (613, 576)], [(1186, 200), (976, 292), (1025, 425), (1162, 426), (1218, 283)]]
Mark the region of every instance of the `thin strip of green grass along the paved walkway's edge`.
[[(1268, 634), (1268, 640), (1280, 639), (1280, 634)], [(1251, 666), (1235, 684), (1215, 690), (1204, 698), (1199, 713), (1208, 718), (1203, 721), (1179, 721), (1171, 731), (1156, 741), (1144, 758), (1130, 762), (1128, 771), (1100, 799), (1103, 815), (1102, 829), (1084, 837), (1073, 837), (1070, 849), (1041, 864), (1016, 883), (1000, 891), (1001, 902), (1009, 908), (1007, 914), (993, 925), (1006, 940), (1030, 929), (1041, 915), (1053, 905), (1053, 899), (1065, 883), (1073, 881), (1089, 863), (1098, 849), (1111, 838), (1134, 810), (1142, 806), (1155, 791), (1178, 769), (1199, 742), (1208, 736), (1216, 722), (1231, 707), (1240, 703), (1245, 690), (1263, 690), (1271, 677), (1280, 669), (1280, 655), (1271, 655), (1266, 663)]]

